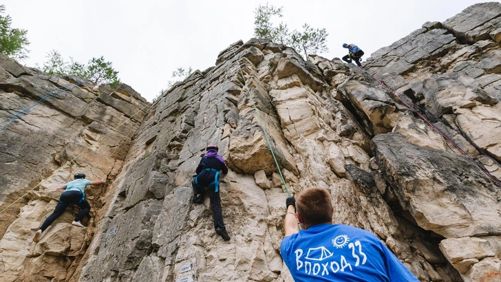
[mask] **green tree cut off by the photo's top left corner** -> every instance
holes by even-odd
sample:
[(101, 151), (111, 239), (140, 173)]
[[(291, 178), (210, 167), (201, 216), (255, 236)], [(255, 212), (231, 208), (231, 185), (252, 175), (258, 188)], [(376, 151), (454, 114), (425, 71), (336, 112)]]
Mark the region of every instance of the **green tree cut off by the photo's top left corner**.
[(23, 61), (28, 58), (27, 54), (30, 52), (26, 49), (26, 46), (30, 45), (30, 41), (26, 39), (28, 30), (11, 28), (12, 19), (9, 15), (3, 16), (5, 12), (6, 6), (0, 5), (0, 53)]

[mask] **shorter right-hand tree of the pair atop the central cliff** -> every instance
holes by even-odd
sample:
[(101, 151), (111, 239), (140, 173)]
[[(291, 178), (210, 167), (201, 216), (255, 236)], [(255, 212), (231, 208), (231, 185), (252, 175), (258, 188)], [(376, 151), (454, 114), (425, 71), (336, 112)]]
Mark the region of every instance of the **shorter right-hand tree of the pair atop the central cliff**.
[(294, 30), (290, 34), (290, 43), (295, 50), (304, 52), (304, 56), (308, 58), (308, 54), (317, 52), (327, 52), (329, 49), (326, 45), (327, 33), (325, 28), (311, 28), (305, 23), (303, 31)]

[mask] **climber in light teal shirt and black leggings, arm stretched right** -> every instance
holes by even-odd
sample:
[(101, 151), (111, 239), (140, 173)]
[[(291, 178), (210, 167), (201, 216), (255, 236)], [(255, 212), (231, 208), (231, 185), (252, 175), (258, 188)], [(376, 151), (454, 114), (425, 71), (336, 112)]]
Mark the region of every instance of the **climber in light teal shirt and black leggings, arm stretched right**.
[(52, 222), (54, 222), (58, 217), (60, 217), (70, 204), (76, 204), (82, 209), (80, 213), (76, 215), (75, 220), (72, 222), (72, 225), (78, 227), (85, 227), (83, 226), (83, 224), (80, 223), (80, 221), (83, 219), (83, 217), (85, 217), (85, 215), (89, 214), (90, 205), (89, 202), (87, 202), (87, 199), (85, 199), (85, 193), (83, 191), (85, 190), (85, 187), (87, 185), (100, 185), (100, 184), (106, 184), (106, 182), (86, 180), (85, 174), (76, 173), (74, 175), (73, 181), (70, 181), (67, 184), (64, 184), (63, 186), (56, 188), (56, 190), (64, 190), (64, 192), (61, 194), (61, 197), (59, 197), (59, 202), (57, 203), (56, 208), (54, 209), (54, 213), (52, 213), (52, 215), (47, 217), (47, 219), (43, 221), (43, 224), (40, 227), (40, 229), (35, 232), (33, 241), (34, 242), (40, 241), (42, 232), (45, 231), (45, 229), (47, 229), (47, 227), (49, 227), (52, 224)]

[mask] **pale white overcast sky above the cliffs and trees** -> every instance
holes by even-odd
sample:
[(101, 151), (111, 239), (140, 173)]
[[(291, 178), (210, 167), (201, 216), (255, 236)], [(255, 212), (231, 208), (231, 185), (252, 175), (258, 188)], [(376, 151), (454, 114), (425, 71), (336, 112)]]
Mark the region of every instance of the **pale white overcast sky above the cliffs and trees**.
[[(253, 37), (254, 10), (266, 1), (226, 0), (3, 0), (12, 27), (28, 30), (30, 58), (43, 65), (50, 50), (87, 63), (104, 56), (118, 76), (151, 102), (177, 67), (206, 69), (231, 43)], [(394, 43), (426, 21), (445, 21), (479, 1), (269, 0), (284, 6), (290, 30), (303, 23), (326, 28), (329, 51), (341, 58), (343, 43), (372, 52)]]

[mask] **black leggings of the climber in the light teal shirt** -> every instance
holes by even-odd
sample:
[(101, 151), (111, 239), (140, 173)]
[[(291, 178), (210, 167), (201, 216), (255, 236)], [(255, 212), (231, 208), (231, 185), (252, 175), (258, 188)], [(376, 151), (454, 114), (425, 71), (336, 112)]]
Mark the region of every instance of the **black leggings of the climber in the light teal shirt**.
[(66, 208), (70, 204), (76, 204), (79, 206), (82, 210), (78, 215), (75, 217), (75, 221), (81, 221), (85, 215), (89, 214), (90, 211), (90, 205), (89, 202), (87, 202), (87, 199), (84, 199), (82, 202), (82, 192), (80, 191), (64, 191), (63, 194), (61, 194), (61, 197), (59, 197), (59, 202), (57, 203), (56, 209), (54, 210), (54, 213), (52, 215), (49, 215), (45, 221), (43, 221), (43, 224), (41, 226), (42, 232), (49, 227), (54, 220), (56, 220), (58, 217), (60, 217), (66, 210)]

